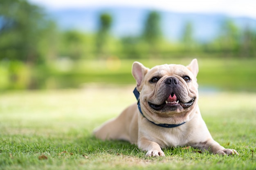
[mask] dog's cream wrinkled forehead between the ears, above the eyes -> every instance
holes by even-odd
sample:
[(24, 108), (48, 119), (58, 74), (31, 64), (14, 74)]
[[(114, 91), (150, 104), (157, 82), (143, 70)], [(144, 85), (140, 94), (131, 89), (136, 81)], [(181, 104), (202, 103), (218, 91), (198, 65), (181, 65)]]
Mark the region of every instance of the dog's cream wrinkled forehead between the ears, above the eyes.
[(151, 68), (146, 74), (146, 79), (152, 76), (163, 77), (163, 76), (192, 76), (191, 71), (183, 65), (179, 64), (164, 64)]

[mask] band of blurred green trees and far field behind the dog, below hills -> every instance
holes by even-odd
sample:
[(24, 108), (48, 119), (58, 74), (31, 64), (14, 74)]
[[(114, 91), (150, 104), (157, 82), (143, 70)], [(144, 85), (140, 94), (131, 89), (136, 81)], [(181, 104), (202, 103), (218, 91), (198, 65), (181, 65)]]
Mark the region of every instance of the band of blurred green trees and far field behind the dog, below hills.
[[(156, 11), (148, 13), (137, 36), (112, 36), (113, 20), (115, 16), (101, 13), (94, 33), (61, 31), (42, 8), (26, 0), (1, 0), (0, 90), (134, 83), (130, 70), (135, 60), (150, 67), (189, 64), (197, 57), (204, 63), (202, 84), (256, 91), (256, 31), (249, 26), (240, 30), (226, 20), (216, 38), (202, 43), (194, 39), (193, 23), (188, 21), (181, 40), (170, 42), (161, 32)], [(238, 75), (243, 81), (236, 80)]]

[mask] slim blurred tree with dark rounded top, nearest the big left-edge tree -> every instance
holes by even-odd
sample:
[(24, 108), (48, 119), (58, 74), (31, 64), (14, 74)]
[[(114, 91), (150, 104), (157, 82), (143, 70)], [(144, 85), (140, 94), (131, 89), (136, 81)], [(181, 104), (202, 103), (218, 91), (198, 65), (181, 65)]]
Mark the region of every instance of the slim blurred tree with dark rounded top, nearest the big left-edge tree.
[(112, 25), (112, 17), (108, 13), (102, 13), (99, 17), (99, 30), (96, 37), (96, 52), (99, 57), (108, 53), (107, 44)]

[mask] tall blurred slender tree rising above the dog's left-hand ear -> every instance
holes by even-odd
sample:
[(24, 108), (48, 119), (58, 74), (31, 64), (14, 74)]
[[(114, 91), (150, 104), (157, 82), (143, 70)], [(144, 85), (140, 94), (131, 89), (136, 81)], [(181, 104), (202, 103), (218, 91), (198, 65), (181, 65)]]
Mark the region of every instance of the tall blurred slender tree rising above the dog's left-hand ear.
[(146, 40), (149, 46), (150, 53), (155, 55), (158, 53), (159, 40), (162, 38), (162, 31), (160, 27), (160, 15), (156, 11), (151, 11), (148, 14), (144, 25), (142, 38)]

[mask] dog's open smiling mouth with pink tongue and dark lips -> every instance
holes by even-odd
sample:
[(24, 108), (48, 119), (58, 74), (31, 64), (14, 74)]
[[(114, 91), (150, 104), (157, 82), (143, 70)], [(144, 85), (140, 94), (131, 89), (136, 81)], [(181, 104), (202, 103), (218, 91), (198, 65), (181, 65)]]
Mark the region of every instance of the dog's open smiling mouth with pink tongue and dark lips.
[(180, 106), (182, 108), (189, 108), (190, 106), (193, 105), (194, 101), (195, 101), (195, 98), (193, 98), (189, 102), (184, 103), (180, 101), (174, 93), (172, 93), (171, 95), (168, 96), (168, 98), (165, 100), (163, 104), (158, 105), (158, 104), (153, 104), (148, 102), (148, 105), (157, 111), (162, 110), (163, 108), (166, 108), (166, 107), (171, 108), (171, 110), (176, 110), (175, 108), (179, 108)]

